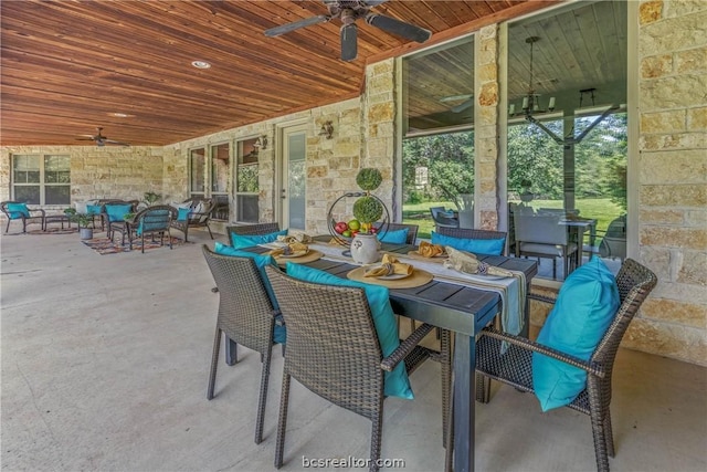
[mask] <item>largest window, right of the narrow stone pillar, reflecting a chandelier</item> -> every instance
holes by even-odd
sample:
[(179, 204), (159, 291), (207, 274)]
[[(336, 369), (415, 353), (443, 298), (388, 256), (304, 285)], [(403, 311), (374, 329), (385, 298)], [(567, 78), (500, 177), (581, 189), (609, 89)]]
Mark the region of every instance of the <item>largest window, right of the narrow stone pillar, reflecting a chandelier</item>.
[[(625, 258), (626, 17), (625, 2), (578, 2), (508, 27), (511, 251), (514, 213), (559, 212), (590, 221), (581, 241), (567, 235), (584, 260), (597, 253), (616, 272)], [(562, 34), (574, 27), (582, 34)], [(540, 276), (550, 264), (541, 259)]]

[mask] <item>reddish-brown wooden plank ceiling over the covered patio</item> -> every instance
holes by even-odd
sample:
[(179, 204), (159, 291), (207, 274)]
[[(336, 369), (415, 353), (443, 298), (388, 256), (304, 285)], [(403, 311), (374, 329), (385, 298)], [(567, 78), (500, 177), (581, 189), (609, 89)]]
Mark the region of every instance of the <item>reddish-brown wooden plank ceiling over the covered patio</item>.
[[(431, 44), (551, 3), (390, 0), (373, 11), (429, 29)], [(315, 0), (3, 1), (0, 145), (93, 145), (76, 137), (98, 126), (133, 145), (172, 144), (358, 96), (367, 61), (418, 46), (362, 20), (351, 62), (339, 59), (338, 20), (263, 34), (326, 12)]]

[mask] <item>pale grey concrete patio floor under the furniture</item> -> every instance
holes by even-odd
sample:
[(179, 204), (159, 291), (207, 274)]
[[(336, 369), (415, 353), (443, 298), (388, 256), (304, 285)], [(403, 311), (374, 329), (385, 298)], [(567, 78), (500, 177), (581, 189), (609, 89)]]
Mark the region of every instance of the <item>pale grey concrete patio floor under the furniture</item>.
[[(205, 398), (218, 294), (201, 254), (212, 241), (191, 237), (99, 255), (75, 233), (2, 235), (3, 471), (274, 470), (281, 350), (255, 444), (257, 355), (220, 361)], [(439, 379), (426, 363), (411, 377), (415, 400), (386, 400), (382, 458), (405, 471), (443, 470)], [(622, 349), (612, 415), (613, 471), (707, 470), (707, 369)], [(285, 471), (303, 470), (303, 457), (368, 457), (370, 422), (297, 382), (287, 430)], [(588, 417), (541, 413), (511, 388), (477, 403), (476, 438), (479, 471), (595, 470)]]

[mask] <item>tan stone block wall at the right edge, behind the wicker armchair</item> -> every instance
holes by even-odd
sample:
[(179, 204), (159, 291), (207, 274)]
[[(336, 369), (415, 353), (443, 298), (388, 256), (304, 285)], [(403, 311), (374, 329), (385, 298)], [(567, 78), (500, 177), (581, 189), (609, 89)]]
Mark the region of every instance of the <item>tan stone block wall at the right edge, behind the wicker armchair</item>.
[(707, 2), (645, 1), (637, 23), (632, 176), (640, 258), (659, 282), (624, 345), (707, 365)]

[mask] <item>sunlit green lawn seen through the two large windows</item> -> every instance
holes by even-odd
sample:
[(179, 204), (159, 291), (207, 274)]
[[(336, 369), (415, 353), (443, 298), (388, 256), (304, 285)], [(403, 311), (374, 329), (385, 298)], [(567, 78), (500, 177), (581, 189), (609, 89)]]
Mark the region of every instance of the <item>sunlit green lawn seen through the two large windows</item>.
[[(428, 201), (402, 206), (402, 222), (418, 224), (420, 227), (418, 238), (429, 239), (432, 235), (432, 230), (434, 230), (430, 207), (455, 209), (450, 201)], [(535, 209), (562, 208), (562, 200), (532, 200), (531, 207)], [(623, 212), (619, 206), (612, 203), (608, 198), (578, 199), (577, 209), (580, 211), (580, 217), (597, 219), (597, 229), (599, 231), (605, 231), (609, 223)]]

